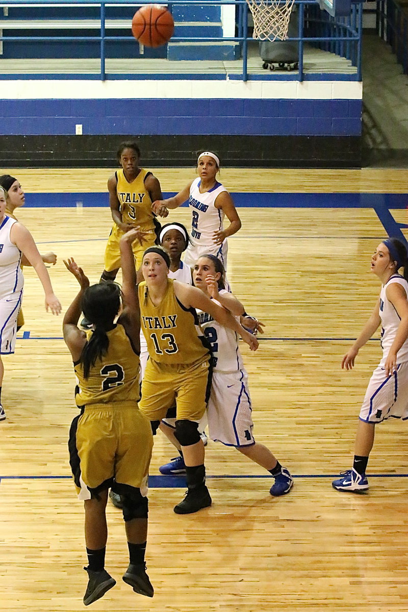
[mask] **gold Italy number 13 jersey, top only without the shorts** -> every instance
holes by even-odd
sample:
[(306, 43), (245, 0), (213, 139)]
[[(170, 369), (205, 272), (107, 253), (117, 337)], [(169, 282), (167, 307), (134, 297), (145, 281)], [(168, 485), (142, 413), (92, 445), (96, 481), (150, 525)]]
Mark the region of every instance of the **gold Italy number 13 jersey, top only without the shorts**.
[(149, 297), (146, 282), (139, 283), (140, 325), (150, 359), (161, 364), (195, 364), (206, 359), (210, 350), (201, 331), (195, 308), (185, 308), (174, 295), (173, 279), (168, 278), (160, 305)]

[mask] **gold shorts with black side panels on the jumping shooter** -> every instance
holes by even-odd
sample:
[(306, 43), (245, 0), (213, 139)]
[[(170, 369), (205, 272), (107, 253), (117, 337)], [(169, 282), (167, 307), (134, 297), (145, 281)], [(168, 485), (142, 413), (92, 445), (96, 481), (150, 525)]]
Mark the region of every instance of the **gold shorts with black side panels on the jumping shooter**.
[(94, 404), (73, 419), (70, 465), (79, 499), (121, 483), (147, 494), (153, 436), (135, 402)]

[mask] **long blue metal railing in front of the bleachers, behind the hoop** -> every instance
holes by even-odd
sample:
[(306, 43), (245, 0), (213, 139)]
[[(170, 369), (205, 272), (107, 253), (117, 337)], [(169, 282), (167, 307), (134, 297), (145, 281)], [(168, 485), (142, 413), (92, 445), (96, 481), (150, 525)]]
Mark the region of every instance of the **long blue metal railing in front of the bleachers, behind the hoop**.
[[(382, 0), (385, 4), (387, 0)], [(392, 2), (393, 0), (388, 0)], [(136, 6), (150, 4), (151, 0), (136, 0)], [(67, 6), (67, 0), (41, 0), (42, 6)], [(228, 0), (168, 0), (166, 5), (169, 10), (175, 5), (191, 5), (191, 6), (231, 6)], [(237, 36), (236, 37), (172, 37), (172, 42), (231, 42), (240, 45), (242, 51), (242, 80), (247, 81), (248, 77), (248, 43), (253, 40), (248, 35), (248, 5), (245, 0), (235, 0), (234, 4), (238, 7), (238, 18), (236, 22)], [(289, 37), (288, 42), (297, 42), (299, 45), (299, 73), (298, 80), (303, 81), (305, 77), (303, 52), (305, 43), (310, 43), (323, 50), (335, 53), (338, 56), (347, 58), (351, 61), (357, 70), (355, 74), (349, 75), (351, 79), (361, 80), (361, 58), (362, 58), (362, 5), (352, 4), (352, 13), (350, 17), (335, 18), (330, 17), (328, 13), (321, 10), (317, 5), (316, 0), (295, 0), (297, 10), (299, 11), (299, 32), (297, 37)], [(0, 11), (2, 7), (18, 7), (31, 6), (36, 7), (37, 0), (7, 0), (0, 2)], [(112, 6), (130, 6), (135, 7), (134, 0), (75, 0), (72, 6), (81, 5), (100, 7), (100, 34), (95, 36), (90, 35), (70, 35), (70, 36), (4, 36), (3, 32), (0, 36), (0, 42), (96, 42), (100, 45), (100, 79), (106, 80), (106, 43), (109, 42), (128, 42), (133, 41), (132, 36), (109, 36), (106, 35), (106, 7)], [(41, 12), (39, 9), (39, 18)], [(17, 20), (16, 20), (17, 21)], [(69, 23), (69, 19), (66, 20)], [(50, 29), (57, 29), (57, 26), (52, 26), (52, 20), (48, 20)], [(130, 24), (129, 24), (130, 28)], [(405, 26), (406, 28), (406, 26)], [(91, 29), (91, 28), (90, 28)], [(406, 57), (406, 51), (405, 51)], [(141, 59), (143, 61), (143, 59)], [(1, 78), (1, 76), (0, 76)], [(270, 78), (274, 78), (270, 75)]]

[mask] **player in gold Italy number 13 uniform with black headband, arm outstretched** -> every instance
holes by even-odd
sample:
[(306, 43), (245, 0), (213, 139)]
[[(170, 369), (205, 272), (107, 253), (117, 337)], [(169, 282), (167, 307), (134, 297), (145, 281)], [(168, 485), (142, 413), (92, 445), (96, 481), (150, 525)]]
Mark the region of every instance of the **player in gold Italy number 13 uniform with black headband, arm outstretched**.
[(144, 282), (139, 283), (138, 292), (149, 360), (139, 406), (155, 433), (176, 403), (174, 435), (184, 455), (188, 491), (174, 512), (188, 514), (212, 502), (206, 487), (204, 444), (198, 432), (210, 391), (211, 354), (195, 308), (238, 332), (251, 349), (258, 348), (258, 340), (202, 291), (168, 278), (169, 266), (169, 256), (162, 248), (150, 247), (144, 253)]

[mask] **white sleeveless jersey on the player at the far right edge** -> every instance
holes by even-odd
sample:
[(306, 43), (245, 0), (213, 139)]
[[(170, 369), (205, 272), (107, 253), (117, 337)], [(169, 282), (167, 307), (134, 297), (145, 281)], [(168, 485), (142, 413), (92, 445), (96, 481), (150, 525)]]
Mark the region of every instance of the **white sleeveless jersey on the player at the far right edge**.
[[(398, 285), (402, 285), (405, 289), (405, 293), (408, 300), (408, 283), (404, 277), (400, 275), (392, 276), (388, 282), (382, 286), (380, 292), (380, 310), (379, 315), (382, 322), (382, 330), (381, 330), (381, 347), (382, 347), (382, 362), (385, 362), (385, 359), (388, 357), (388, 352), (390, 351), (391, 345), (395, 340), (396, 331), (398, 329), (399, 323), (401, 323), (401, 319), (399, 318), (395, 308), (391, 304), (391, 302), (387, 299), (387, 287), (391, 285), (391, 283), (398, 283)], [(404, 342), (397, 354), (397, 362), (401, 363), (402, 361), (408, 360), (408, 340)]]

